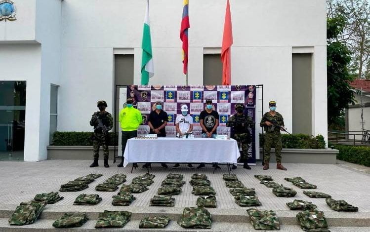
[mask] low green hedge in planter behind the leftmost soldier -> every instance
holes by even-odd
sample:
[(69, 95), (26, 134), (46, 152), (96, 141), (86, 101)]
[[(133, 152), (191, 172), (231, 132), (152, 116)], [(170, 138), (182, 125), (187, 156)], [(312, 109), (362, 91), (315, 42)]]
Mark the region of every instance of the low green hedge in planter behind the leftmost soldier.
[[(53, 141), (51, 145), (54, 146), (92, 146), (92, 132), (59, 132), (53, 134)], [(109, 146), (118, 145), (118, 133), (116, 136), (114, 132), (109, 132)], [(117, 138), (117, 139), (115, 139)]]

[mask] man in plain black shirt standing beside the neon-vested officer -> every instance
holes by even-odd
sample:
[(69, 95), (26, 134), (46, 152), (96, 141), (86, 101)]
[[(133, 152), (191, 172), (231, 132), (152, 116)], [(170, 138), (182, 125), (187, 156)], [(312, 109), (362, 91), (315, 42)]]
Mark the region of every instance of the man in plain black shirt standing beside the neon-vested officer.
[[(165, 126), (167, 125), (167, 113), (162, 110), (162, 103), (156, 103), (156, 109), (149, 115), (148, 125), (150, 127), (149, 134), (157, 134), (157, 137), (165, 137)], [(162, 167), (167, 168), (167, 164), (161, 163)], [(150, 163), (143, 165), (143, 168), (148, 168)]]

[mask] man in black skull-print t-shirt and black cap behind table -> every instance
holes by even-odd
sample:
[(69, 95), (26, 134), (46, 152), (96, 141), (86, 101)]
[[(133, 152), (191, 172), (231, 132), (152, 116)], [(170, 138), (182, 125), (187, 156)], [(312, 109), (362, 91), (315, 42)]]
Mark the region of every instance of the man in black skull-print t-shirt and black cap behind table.
[[(217, 127), (219, 124), (219, 115), (213, 110), (212, 100), (206, 100), (206, 110), (201, 112), (200, 124), (202, 127), (202, 138), (214, 138), (217, 134)], [(221, 169), (217, 163), (213, 163), (213, 167)], [(204, 168), (206, 165), (201, 163), (197, 168)]]

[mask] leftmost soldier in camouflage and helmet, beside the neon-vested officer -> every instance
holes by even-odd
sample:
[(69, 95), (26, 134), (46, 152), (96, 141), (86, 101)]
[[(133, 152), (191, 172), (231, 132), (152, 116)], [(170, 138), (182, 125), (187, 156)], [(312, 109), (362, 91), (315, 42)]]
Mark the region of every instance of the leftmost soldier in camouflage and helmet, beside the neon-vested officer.
[(107, 107), (108, 106), (105, 101), (98, 101), (99, 111), (95, 112), (91, 116), (90, 125), (94, 127), (94, 134), (92, 138), (92, 144), (94, 147), (94, 162), (90, 165), (90, 167), (99, 166), (98, 159), (100, 146), (103, 147), (104, 151), (104, 167), (109, 167), (109, 131), (113, 127), (113, 117), (111, 114), (105, 111), (105, 108)]

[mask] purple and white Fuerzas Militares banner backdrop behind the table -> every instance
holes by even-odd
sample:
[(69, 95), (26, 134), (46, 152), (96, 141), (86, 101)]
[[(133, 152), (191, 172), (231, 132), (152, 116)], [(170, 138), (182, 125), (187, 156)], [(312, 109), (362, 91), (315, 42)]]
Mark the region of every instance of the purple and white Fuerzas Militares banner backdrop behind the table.
[[(206, 109), (206, 99), (212, 99), (213, 110), (219, 114), (219, 127), (217, 134), (230, 136), (230, 127), (226, 122), (230, 116), (236, 113), (235, 105), (242, 103), (246, 106), (246, 114), (255, 122), (256, 88), (255, 85), (128, 85), (127, 97), (133, 98), (134, 107), (143, 116), (143, 124), (138, 129), (138, 136), (149, 133), (148, 118), (150, 112), (155, 110), (157, 102), (163, 103), (163, 110), (168, 115), (168, 123), (165, 127), (167, 137), (176, 136), (176, 116), (181, 115), (181, 106), (187, 105), (190, 116), (193, 117), (193, 134), (201, 137), (202, 128), (199, 124), (200, 113)], [(123, 105), (125, 107), (125, 105)], [(255, 129), (249, 133), (252, 142), (248, 149), (248, 163), (255, 163)], [(240, 162), (243, 162), (241, 160)]]

